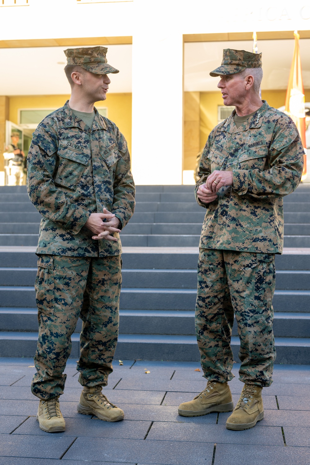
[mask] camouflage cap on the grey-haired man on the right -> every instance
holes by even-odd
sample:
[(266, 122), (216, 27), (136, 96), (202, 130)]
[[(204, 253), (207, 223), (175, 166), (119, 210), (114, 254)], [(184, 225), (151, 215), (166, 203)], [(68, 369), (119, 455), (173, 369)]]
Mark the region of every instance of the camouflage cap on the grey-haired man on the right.
[(261, 68), (262, 54), (224, 48), (221, 66), (211, 71), (210, 76), (221, 74), (236, 74), (246, 68)]

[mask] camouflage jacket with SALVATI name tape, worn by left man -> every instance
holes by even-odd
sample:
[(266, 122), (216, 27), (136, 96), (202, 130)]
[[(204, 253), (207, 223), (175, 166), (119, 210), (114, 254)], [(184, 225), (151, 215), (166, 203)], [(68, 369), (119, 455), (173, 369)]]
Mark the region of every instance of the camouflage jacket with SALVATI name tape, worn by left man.
[(36, 253), (105, 257), (121, 243), (92, 239), (84, 225), (106, 207), (124, 227), (133, 214), (135, 187), (124, 136), (96, 115), (90, 129), (65, 106), (46, 116), (33, 133), (27, 157), (29, 197), (41, 213)]

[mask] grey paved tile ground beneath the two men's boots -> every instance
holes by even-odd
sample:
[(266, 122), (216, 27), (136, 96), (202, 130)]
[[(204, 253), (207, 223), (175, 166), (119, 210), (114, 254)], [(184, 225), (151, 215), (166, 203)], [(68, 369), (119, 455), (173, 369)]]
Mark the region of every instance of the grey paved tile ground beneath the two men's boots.
[[(243, 386), (238, 367), (230, 383), (235, 403)], [(189, 362), (116, 361), (104, 389), (125, 420), (107, 423), (77, 413), (81, 386), (69, 360), (60, 401), (66, 432), (49, 434), (35, 418), (33, 360), (0, 359), (0, 464), (310, 465), (310, 365), (275, 365), (274, 383), (263, 391), (264, 420), (240, 432), (226, 430), (229, 413), (178, 416), (178, 404), (205, 387), (197, 368)]]

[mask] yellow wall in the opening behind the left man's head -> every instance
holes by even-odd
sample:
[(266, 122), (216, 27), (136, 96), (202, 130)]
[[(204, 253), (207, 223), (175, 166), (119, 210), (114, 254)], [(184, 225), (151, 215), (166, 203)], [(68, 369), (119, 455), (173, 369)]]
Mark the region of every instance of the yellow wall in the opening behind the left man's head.
[[(9, 120), (18, 123), (18, 110), (22, 108), (59, 108), (70, 95), (18, 95), (9, 97)], [(108, 118), (124, 134), (129, 152), (132, 146), (132, 94), (110, 93), (105, 101), (96, 102), (95, 106), (107, 107)]]

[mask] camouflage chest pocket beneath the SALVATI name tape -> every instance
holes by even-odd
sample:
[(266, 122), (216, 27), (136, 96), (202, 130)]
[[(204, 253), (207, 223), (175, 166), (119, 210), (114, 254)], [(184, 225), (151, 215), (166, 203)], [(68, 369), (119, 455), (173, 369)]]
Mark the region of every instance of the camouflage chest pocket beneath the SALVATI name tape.
[(76, 191), (85, 166), (90, 158), (90, 153), (73, 151), (67, 147), (59, 146), (59, 166), (54, 176), (56, 186), (66, 187), (70, 191)]

